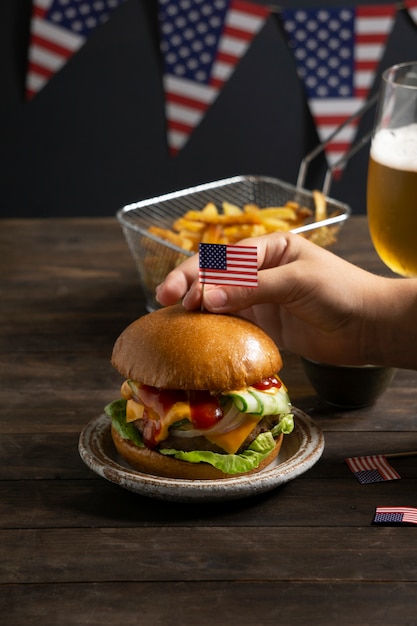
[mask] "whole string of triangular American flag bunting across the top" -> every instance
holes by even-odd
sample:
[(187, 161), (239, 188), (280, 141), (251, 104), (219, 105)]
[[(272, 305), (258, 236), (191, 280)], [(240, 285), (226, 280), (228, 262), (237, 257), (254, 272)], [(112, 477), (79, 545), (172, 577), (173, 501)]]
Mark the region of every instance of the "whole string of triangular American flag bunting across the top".
[[(26, 97), (33, 98), (125, 0), (33, 0)], [(158, 0), (162, 84), (171, 155), (184, 148), (271, 15), (294, 55), (320, 141), (372, 89), (396, 13), (417, 26), (417, 0), (281, 9), (246, 0)], [(326, 148), (329, 165), (352, 145), (357, 120)]]

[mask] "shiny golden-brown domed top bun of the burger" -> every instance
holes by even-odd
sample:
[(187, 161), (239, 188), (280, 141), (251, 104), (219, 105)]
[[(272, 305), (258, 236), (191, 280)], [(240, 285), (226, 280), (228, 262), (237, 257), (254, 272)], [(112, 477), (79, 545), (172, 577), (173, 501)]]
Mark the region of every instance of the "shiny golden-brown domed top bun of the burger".
[(232, 315), (158, 309), (117, 339), (113, 366), (126, 378), (162, 389), (242, 389), (282, 368), (274, 341)]

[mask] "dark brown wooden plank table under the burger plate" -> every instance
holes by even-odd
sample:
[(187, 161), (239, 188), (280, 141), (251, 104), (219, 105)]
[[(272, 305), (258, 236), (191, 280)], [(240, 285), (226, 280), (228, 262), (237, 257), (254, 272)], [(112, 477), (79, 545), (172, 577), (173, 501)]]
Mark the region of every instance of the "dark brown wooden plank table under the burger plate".
[[(334, 250), (386, 271), (362, 217)], [(344, 412), (284, 354), (294, 405), (324, 431), (320, 461), (245, 500), (151, 500), (98, 477), (77, 448), (118, 395), (113, 342), (144, 313), (116, 220), (3, 220), (0, 264), (3, 624), (417, 623), (417, 529), (372, 524), (376, 506), (417, 506), (417, 462), (362, 486), (344, 461), (417, 448), (416, 372)]]

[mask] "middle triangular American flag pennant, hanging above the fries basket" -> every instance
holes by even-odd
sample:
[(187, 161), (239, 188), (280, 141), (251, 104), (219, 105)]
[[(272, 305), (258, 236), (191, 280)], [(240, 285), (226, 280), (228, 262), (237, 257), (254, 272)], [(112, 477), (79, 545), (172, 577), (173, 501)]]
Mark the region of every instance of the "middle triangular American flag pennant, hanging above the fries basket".
[(231, 77), (269, 11), (241, 0), (158, 0), (163, 86), (171, 155)]

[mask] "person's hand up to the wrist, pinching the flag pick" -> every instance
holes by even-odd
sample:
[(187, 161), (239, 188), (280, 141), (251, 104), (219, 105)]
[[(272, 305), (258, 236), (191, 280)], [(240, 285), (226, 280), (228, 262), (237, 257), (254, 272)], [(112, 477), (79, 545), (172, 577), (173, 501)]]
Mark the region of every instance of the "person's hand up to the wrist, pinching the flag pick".
[[(274, 233), (239, 242), (258, 249), (258, 287), (205, 285), (198, 255), (157, 288), (163, 305), (183, 298), (186, 309), (251, 319), (281, 348), (328, 363), (369, 361), (372, 312), (386, 279), (366, 272), (299, 235)], [(382, 290), (383, 291), (383, 290)]]

